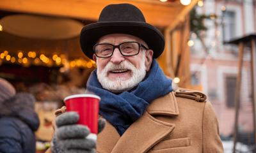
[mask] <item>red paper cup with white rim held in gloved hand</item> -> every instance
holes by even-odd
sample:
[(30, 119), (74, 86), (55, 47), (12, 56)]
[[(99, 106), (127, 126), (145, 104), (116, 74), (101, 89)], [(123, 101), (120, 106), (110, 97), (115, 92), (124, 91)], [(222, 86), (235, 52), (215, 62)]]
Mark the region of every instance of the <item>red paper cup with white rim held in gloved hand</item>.
[(64, 98), (67, 112), (79, 114), (78, 124), (88, 126), (91, 133), (87, 138), (97, 140), (100, 97), (94, 94), (74, 94)]

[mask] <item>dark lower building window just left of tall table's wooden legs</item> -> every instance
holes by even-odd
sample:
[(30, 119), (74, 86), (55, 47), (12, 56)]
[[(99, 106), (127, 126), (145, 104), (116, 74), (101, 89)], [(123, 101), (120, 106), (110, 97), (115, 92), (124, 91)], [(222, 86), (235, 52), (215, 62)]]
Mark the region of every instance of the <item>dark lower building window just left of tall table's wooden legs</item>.
[(226, 105), (228, 108), (235, 106), (236, 79), (235, 76), (226, 77)]

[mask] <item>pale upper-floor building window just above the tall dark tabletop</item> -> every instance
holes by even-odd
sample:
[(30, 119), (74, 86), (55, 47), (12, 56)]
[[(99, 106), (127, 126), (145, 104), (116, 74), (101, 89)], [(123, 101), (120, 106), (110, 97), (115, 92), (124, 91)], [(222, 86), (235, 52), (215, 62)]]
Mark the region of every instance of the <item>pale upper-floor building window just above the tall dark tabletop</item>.
[(236, 34), (236, 12), (225, 11), (223, 13), (223, 40), (229, 41), (235, 38)]

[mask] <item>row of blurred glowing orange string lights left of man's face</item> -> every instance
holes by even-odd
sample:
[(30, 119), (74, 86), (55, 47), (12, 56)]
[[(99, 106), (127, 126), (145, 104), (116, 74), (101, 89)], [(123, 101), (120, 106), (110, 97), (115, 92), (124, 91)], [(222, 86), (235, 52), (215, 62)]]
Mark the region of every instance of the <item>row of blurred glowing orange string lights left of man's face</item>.
[(17, 54), (10, 54), (8, 50), (4, 50), (0, 52), (0, 64), (6, 62), (10, 64), (20, 64), (23, 66), (29, 66), (31, 64), (39, 66), (65, 66), (67, 68), (96, 68), (96, 64), (94, 61), (86, 61), (82, 58), (74, 59), (69, 61), (64, 54), (58, 55), (45, 55), (45, 54), (36, 54), (36, 52), (28, 52), (27, 54), (22, 51), (18, 50)]

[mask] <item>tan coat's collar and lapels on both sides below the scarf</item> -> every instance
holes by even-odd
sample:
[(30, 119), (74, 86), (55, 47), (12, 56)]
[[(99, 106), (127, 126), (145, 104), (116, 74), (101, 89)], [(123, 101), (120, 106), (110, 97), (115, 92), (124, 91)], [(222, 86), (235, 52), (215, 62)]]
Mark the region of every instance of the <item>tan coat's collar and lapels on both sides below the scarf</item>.
[(175, 128), (174, 124), (157, 120), (154, 115), (179, 115), (173, 92), (152, 101), (147, 111), (121, 137), (116, 129), (107, 122), (105, 129), (98, 136), (97, 152), (128, 153), (134, 152), (134, 149), (136, 152), (147, 152)]

